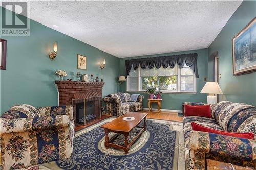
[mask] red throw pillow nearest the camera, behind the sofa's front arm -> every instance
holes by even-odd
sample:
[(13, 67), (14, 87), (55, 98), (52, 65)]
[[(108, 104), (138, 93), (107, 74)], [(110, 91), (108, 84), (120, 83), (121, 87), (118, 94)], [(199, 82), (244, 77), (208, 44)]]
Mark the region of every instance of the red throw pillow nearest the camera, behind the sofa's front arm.
[(227, 136), (233, 136), (233, 137), (240, 137), (240, 138), (246, 138), (246, 139), (254, 139), (254, 134), (251, 132), (236, 133), (236, 132), (220, 131), (220, 130), (211, 129), (211, 128), (199, 125), (195, 122), (192, 122), (191, 126), (192, 126), (192, 130), (194, 130), (194, 131), (209, 132), (209, 133), (215, 133), (215, 134), (227, 135)]

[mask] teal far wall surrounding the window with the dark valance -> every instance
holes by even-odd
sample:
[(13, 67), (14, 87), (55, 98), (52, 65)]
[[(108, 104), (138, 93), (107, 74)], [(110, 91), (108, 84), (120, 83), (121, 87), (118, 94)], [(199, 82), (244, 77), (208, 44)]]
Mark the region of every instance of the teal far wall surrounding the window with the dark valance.
[[(200, 91), (202, 90), (203, 86), (206, 83), (205, 81), (203, 81), (204, 77), (208, 76), (208, 50), (207, 49), (122, 58), (120, 59), (119, 72), (120, 72), (120, 75), (125, 75), (125, 60), (127, 59), (177, 55), (177, 54), (184, 54), (184, 53), (198, 53), (197, 62), (198, 62), (198, 72), (199, 72), (200, 78), (197, 78), (197, 94), (175, 94), (175, 93), (162, 94), (162, 99), (163, 99), (162, 109), (182, 110), (182, 103), (184, 102), (206, 102), (207, 95), (200, 93)], [(120, 91), (126, 92), (126, 82), (120, 85)], [(139, 94), (144, 95), (145, 99), (143, 101), (143, 107), (147, 107), (148, 94), (147, 93), (139, 93)], [(157, 108), (157, 104), (154, 103), (152, 107)]]

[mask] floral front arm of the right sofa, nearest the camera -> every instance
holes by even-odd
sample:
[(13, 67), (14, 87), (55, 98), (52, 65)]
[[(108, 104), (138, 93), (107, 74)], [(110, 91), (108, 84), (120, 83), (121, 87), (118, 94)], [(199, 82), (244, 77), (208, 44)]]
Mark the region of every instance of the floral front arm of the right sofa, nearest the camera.
[(200, 131), (190, 132), (190, 149), (248, 162), (256, 161), (256, 140)]

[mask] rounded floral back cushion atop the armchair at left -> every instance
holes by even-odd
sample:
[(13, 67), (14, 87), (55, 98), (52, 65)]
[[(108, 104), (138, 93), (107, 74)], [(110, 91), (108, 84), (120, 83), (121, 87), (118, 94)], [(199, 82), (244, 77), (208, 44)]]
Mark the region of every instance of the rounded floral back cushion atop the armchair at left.
[(16, 110), (16, 111), (23, 112), (28, 117), (40, 117), (41, 116), (39, 111), (34, 106), (26, 105), (26, 104), (12, 106), (9, 109), (9, 111), (10, 110)]

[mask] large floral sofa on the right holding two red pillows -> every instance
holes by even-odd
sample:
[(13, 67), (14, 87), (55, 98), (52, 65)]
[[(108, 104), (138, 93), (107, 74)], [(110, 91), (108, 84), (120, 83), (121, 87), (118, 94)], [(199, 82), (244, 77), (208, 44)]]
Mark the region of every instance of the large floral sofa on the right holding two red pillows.
[(207, 169), (206, 162), (218, 161), (256, 169), (256, 140), (191, 130), (191, 122), (196, 122), (222, 131), (253, 132), (256, 137), (256, 107), (222, 101), (211, 105), (211, 115), (183, 119), (186, 168)]

